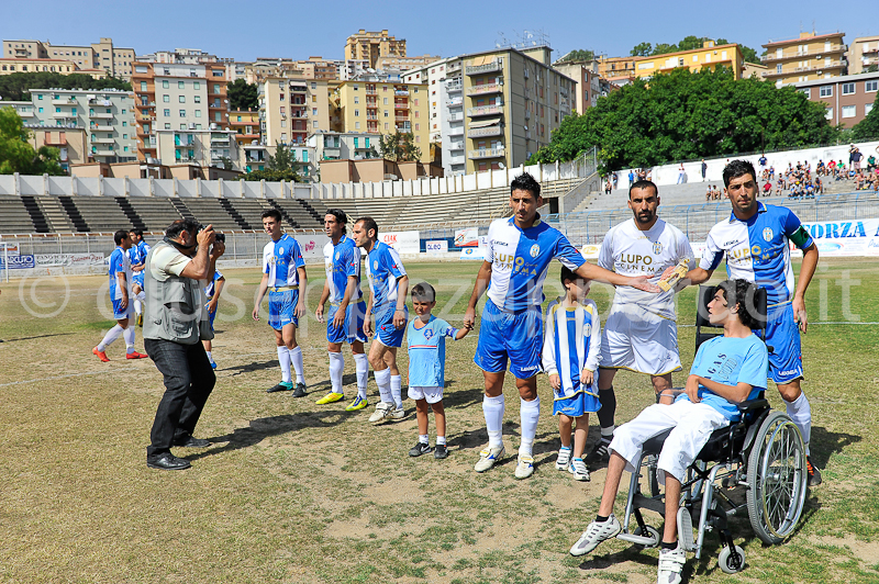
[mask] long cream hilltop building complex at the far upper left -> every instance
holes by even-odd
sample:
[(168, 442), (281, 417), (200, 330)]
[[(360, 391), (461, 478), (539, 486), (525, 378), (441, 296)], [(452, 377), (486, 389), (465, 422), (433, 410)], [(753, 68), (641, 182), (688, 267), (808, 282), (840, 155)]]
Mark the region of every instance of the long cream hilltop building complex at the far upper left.
[[(90, 45), (53, 45), (48, 41), (3, 41), (4, 59), (46, 59), (69, 61), (76, 65), (76, 69), (89, 72), (92, 77), (93, 70), (104, 71), (104, 76), (118, 77), (129, 81), (131, 79), (132, 67), (135, 59), (133, 48), (116, 47), (110, 37), (101, 37), (98, 43)], [(33, 69), (38, 66), (38, 69)], [(42, 68), (43, 64), (31, 64), (29, 70), (47, 70)], [(48, 65), (49, 67), (52, 65)], [(22, 70), (21, 65), (18, 70)], [(0, 67), (1, 68), (1, 67)], [(52, 69), (48, 69), (52, 70)], [(58, 70), (58, 72), (78, 72)], [(97, 77), (96, 77), (97, 78)]]

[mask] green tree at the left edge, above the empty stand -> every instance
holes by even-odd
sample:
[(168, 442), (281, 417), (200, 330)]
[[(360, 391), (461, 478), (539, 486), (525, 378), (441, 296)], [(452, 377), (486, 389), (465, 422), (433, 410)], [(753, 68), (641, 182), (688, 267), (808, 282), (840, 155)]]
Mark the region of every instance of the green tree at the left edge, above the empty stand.
[(0, 108), (0, 175), (64, 175), (58, 148), (34, 150), (27, 143), (30, 134), (15, 110)]

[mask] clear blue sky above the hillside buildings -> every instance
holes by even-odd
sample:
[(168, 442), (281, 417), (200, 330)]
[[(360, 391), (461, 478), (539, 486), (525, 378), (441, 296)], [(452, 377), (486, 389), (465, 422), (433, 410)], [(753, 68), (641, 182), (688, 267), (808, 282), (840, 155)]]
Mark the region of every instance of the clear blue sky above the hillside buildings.
[[(659, 5), (664, 4), (664, 5)], [(315, 2), (263, 0), (242, 2), (183, 0), (12, 2), (3, 10), (3, 40), (49, 40), (82, 45), (109, 36), (118, 47), (137, 54), (199, 48), (218, 57), (341, 59), (345, 40), (359, 29), (407, 40), (407, 53), (449, 57), (516, 43), (526, 31), (547, 38), (554, 58), (577, 48), (624, 56), (638, 43), (677, 43), (688, 35), (726, 38), (757, 53), (770, 40), (842, 31), (849, 44), (878, 35), (879, 19), (867, 3), (828, 10), (826, 2), (804, 0), (579, 2), (507, 0), (493, 2)], [(38, 7), (38, 8), (37, 8)], [(37, 12), (38, 11), (38, 12)]]

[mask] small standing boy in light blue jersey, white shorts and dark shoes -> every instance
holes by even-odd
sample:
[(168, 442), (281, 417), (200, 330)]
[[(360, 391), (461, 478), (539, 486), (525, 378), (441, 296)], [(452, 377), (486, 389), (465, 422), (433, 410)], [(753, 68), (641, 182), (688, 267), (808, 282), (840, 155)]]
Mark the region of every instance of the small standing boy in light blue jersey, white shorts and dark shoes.
[[(434, 458), (448, 456), (446, 446), (446, 409), (443, 405), (445, 388), (446, 337), (460, 340), (469, 328), (453, 328), (442, 318), (431, 314), (436, 306), (436, 291), (427, 282), (412, 288), (412, 308), (418, 315), (405, 330), (409, 347), (409, 398), (415, 401), (419, 420), (419, 441), (409, 451), (410, 457), (420, 457), (433, 451)], [(436, 449), (431, 448), (427, 437), (427, 412), (433, 409), (436, 418)]]

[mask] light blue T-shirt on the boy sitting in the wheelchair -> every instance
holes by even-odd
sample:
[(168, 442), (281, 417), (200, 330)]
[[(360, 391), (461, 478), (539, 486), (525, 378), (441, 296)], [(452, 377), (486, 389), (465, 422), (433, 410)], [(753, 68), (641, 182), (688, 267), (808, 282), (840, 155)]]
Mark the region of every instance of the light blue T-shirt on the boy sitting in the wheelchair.
[[(724, 385), (747, 383), (752, 385), (748, 400), (754, 400), (761, 391), (766, 390), (767, 375), (769, 374), (769, 352), (766, 344), (757, 335), (746, 338), (714, 337), (699, 346), (699, 351), (690, 368), (691, 375), (706, 378)], [(701, 383), (699, 384), (699, 398), (710, 405), (726, 419), (733, 422), (738, 418), (738, 408), (735, 404), (724, 400)], [(676, 401), (690, 397), (682, 393)]]

